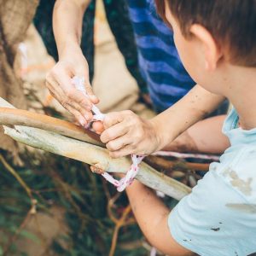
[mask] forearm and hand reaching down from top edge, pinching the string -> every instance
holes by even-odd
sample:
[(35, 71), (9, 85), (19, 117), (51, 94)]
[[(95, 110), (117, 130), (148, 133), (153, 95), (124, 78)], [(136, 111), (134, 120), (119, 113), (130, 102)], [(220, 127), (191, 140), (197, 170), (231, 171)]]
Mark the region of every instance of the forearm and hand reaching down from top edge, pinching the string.
[[(91, 118), (91, 102), (97, 103), (93, 95), (87, 61), (80, 49), (84, 11), (90, 0), (57, 0), (53, 14), (53, 27), (59, 61), (46, 77), (46, 85), (56, 100), (70, 113), (73, 113), (81, 125)], [(71, 82), (74, 76), (84, 77), (90, 98), (76, 90)]]

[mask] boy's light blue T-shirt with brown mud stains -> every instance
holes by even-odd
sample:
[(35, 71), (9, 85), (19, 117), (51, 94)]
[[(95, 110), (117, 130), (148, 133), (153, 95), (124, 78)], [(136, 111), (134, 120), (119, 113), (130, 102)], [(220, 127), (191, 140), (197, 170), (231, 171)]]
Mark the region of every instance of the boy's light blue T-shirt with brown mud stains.
[(173, 238), (202, 256), (256, 252), (256, 129), (237, 124), (232, 109), (223, 127), (230, 148), (169, 216)]

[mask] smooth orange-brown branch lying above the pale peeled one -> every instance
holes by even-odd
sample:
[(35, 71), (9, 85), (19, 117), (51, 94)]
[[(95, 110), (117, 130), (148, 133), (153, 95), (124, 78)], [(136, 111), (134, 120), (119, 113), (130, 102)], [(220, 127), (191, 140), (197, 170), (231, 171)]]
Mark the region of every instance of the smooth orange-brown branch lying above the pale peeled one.
[(105, 148), (100, 136), (93, 131), (74, 125), (65, 120), (56, 119), (41, 113), (32, 113), (15, 108), (0, 108), (1, 125), (22, 125), (53, 131), (80, 141)]

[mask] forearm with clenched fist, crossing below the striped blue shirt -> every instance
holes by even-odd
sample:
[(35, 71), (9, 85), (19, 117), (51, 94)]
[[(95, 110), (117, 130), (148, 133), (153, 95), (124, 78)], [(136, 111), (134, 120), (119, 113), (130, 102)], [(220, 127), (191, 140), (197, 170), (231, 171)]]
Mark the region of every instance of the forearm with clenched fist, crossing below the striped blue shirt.
[(172, 143), (223, 101), (223, 96), (197, 84), (183, 99), (151, 120), (127, 111), (109, 113), (103, 122), (106, 130), (102, 132), (102, 143), (107, 143), (112, 157), (151, 154)]

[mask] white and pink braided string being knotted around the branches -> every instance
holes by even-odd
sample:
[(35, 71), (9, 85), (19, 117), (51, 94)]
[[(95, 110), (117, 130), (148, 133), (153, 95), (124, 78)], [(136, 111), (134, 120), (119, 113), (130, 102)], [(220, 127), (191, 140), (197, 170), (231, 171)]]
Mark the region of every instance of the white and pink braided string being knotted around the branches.
[[(79, 78), (78, 76), (73, 77), (72, 83), (76, 87), (77, 90), (80, 90), (84, 96), (88, 97), (88, 94), (86, 93), (86, 90), (84, 88), (84, 78)], [(93, 114), (93, 121), (103, 121), (105, 118), (105, 114), (103, 114), (99, 108), (97, 108), (94, 104), (91, 108)], [(112, 175), (110, 175), (108, 172), (103, 172), (102, 176), (108, 180), (109, 183), (112, 183), (115, 187), (117, 187), (117, 190), (119, 192), (124, 191), (125, 188), (133, 182), (134, 178), (137, 175), (137, 172), (139, 171), (139, 164), (142, 162), (144, 156), (140, 156), (137, 154), (131, 154), (131, 160), (132, 165), (128, 172), (126, 172), (125, 177), (122, 177), (120, 180), (115, 179)]]

